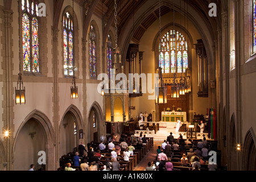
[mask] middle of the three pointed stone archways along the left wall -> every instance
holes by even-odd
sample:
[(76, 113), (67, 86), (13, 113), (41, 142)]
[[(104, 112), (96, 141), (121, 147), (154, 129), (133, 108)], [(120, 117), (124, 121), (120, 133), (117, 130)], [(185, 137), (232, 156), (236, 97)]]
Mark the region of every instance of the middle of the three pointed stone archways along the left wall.
[(59, 126), (59, 157), (79, 146), (79, 130), (84, 127), (79, 109), (71, 105), (65, 111)]

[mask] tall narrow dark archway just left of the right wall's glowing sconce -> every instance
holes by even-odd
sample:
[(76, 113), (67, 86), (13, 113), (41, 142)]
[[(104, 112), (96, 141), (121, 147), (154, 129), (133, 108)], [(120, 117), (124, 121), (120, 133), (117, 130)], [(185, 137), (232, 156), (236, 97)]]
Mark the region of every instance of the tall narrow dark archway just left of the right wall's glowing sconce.
[(236, 126), (235, 126), (234, 114), (230, 121), (230, 170), (237, 170), (237, 139), (236, 139)]

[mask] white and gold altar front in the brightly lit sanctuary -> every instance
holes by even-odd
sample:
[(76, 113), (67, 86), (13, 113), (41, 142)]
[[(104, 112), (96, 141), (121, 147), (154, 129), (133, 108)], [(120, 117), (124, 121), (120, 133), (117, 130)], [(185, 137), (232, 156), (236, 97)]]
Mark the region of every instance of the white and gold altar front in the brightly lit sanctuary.
[(181, 122), (187, 121), (186, 112), (176, 112), (176, 111), (163, 111), (162, 112), (162, 121), (163, 122), (176, 122), (177, 119), (180, 119)]

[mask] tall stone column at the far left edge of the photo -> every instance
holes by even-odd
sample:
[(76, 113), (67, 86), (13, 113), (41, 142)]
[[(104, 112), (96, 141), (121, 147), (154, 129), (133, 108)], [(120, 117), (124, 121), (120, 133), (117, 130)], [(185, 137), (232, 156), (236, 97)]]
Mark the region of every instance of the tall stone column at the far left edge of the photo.
[[(5, 43), (3, 45), (3, 49), (5, 49), (5, 57), (3, 60), (2, 68), (3, 68), (3, 131), (7, 130), (10, 133), (10, 136), (6, 138), (3, 142), (3, 146), (5, 146), (5, 158), (4, 162), (5, 170), (11, 171), (13, 170), (13, 140), (14, 140), (14, 86), (13, 86), (13, 51), (12, 51), (12, 34), (13, 27), (11, 27), (11, 22), (13, 19), (13, 11), (11, 10), (3, 10), (4, 14), (4, 24), (5, 24)], [(15, 77), (18, 79), (18, 76)]]

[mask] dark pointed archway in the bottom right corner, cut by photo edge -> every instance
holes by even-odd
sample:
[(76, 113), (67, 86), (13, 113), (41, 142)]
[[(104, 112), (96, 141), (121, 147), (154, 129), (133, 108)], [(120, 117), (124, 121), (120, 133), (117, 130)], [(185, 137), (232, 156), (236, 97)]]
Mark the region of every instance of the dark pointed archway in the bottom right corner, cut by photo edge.
[(245, 171), (256, 171), (256, 137), (251, 128), (243, 142), (242, 169)]

